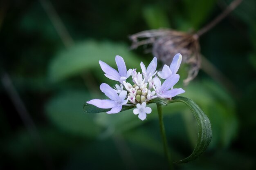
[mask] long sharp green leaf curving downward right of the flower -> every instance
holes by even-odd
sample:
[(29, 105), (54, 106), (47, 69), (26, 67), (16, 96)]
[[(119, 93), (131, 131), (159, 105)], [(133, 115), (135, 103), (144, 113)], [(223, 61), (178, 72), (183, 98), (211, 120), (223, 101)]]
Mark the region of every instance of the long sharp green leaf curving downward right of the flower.
[(181, 97), (181, 96), (175, 96), (171, 100), (162, 98), (163, 102), (168, 103), (175, 103), (175, 102), (182, 102), (186, 104), (186, 106), (189, 107), (189, 109), (192, 111), (195, 119), (198, 122), (198, 141), (197, 144), (192, 152), (192, 154), (189, 157), (186, 157), (185, 159), (182, 159), (180, 161), (177, 161), (175, 163), (186, 163), (189, 161), (193, 161), (196, 158), (198, 158), (202, 153), (207, 149), (211, 142), (211, 123), (208, 119), (207, 115), (199, 108), (193, 100)]

